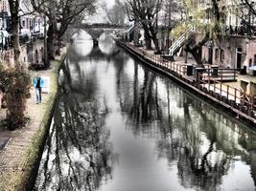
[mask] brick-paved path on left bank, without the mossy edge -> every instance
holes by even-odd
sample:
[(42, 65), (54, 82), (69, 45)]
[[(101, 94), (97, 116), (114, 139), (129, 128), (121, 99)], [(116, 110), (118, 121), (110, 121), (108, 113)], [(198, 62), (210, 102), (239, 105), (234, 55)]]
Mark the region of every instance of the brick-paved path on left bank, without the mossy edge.
[[(65, 53), (65, 49), (62, 53)], [(60, 60), (60, 56), (57, 57)], [(33, 138), (41, 127), (42, 119), (45, 115), (47, 104), (50, 99), (53, 98), (56, 91), (56, 85), (52, 80), (56, 73), (58, 66), (52, 64), (51, 69), (46, 71), (39, 71), (37, 73), (41, 76), (50, 76), (50, 93), (42, 94), (42, 103), (35, 104), (35, 89), (31, 87), (31, 97), (27, 100), (27, 116), (30, 120), (26, 127), (17, 129), (15, 131), (9, 131), (0, 127), (0, 138), (10, 137), (12, 138), (6, 148), (0, 151), (0, 190), (14, 190), (16, 183), (22, 177), (24, 168), (26, 167), (28, 155), (28, 149), (33, 144)], [(32, 72), (32, 76), (35, 76), (35, 72)], [(0, 117), (5, 117), (6, 110), (0, 111)], [(12, 176), (10, 179), (10, 176)], [(14, 177), (13, 177), (14, 176)]]

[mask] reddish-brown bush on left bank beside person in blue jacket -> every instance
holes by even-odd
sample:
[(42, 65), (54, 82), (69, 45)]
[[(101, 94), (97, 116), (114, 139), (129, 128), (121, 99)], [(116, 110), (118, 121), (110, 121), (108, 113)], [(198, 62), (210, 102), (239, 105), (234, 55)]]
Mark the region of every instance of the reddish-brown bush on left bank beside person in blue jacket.
[(8, 128), (14, 130), (26, 123), (27, 98), (30, 97), (31, 75), (21, 64), (1, 70), (1, 83), (6, 89)]

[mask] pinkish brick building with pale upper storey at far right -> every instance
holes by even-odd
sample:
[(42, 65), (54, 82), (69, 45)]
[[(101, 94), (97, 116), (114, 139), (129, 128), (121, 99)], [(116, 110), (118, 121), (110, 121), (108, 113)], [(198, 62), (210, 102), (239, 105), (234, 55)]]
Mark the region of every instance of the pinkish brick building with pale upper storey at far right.
[[(250, 5), (255, 8), (254, 2)], [(237, 70), (256, 65), (255, 15), (230, 0), (221, 9), (226, 12), (223, 19), (225, 33), (202, 47), (202, 60)]]

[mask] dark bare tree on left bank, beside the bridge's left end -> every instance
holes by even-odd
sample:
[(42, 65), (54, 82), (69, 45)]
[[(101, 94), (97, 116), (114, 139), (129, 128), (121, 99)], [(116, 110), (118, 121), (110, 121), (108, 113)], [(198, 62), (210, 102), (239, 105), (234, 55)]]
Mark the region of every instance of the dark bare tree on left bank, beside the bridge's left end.
[[(81, 19), (85, 13), (96, 11), (97, 0), (31, 0), (35, 11), (48, 18), (48, 59), (55, 57), (57, 45), (68, 26)], [(48, 61), (49, 61), (48, 60)]]

